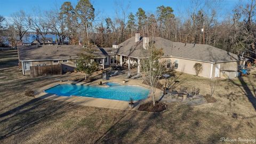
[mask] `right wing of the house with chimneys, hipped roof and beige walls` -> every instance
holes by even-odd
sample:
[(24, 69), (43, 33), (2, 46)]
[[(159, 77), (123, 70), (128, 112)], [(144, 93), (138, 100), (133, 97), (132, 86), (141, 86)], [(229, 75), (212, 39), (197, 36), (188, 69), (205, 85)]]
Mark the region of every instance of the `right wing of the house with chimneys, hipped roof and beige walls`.
[(115, 45), (115, 50), (111, 53), (116, 55), (117, 63), (121, 66), (128, 63), (130, 69), (133, 63), (137, 63), (139, 73), (140, 60), (144, 58), (143, 51), (147, 49), (149, 42), (153, 42), (157, 48), (163, 49), (164, 55), (161, 61), (166, 62), (166, 68), (174, 67), (175, 70), (182, 73), (195, 75), (193, 67), (195, 63), (201, 63), (203, 70), (199, 76), (225, 78), (225, 72), (236, 73), (245, 65), (245, 59), (242, 57), (211, 45), (171, 42), (162, 37), (155, 37), (149, 41), (148, 37), (140, 37), (139, 33), (136, 33), (135, 37)]

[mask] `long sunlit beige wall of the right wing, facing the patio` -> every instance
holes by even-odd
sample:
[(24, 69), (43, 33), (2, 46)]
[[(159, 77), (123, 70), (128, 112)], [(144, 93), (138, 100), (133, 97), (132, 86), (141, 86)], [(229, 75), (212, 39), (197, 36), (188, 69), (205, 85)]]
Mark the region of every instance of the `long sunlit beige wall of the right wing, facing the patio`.
[(182, 73), (191, 74), (191, 75), (196, 75), (196, 72), (194, 70), (195, 63), (201, 63), (203, 66), (203, 71), (202, 73), (199, 74), (199, 76), (210, 78), (211, 63), (186, 60), (186, 59), (180, 59), (180, 58), (162, 58), (161, 61), (167, 62), (167, 59), (171, 59), (172, 66), (174, 66), (175, 60), (179, 60), (179, 67), (175, 70), (180, 71)]

